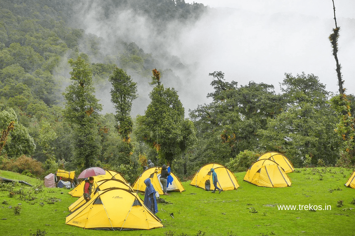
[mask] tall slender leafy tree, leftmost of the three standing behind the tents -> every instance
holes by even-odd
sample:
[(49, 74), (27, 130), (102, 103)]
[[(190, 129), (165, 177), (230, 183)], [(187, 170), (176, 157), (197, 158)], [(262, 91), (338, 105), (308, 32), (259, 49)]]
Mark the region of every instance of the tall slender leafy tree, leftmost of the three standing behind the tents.
[(97, 132), (97, 119), (102, 110), (92, 83), (92, 73), (83, 59), (70, 59), (72, 84), (66, 88), (64, 118), (72, 126), (73, 162), (81, 168), (96, 166), (101, 146)]

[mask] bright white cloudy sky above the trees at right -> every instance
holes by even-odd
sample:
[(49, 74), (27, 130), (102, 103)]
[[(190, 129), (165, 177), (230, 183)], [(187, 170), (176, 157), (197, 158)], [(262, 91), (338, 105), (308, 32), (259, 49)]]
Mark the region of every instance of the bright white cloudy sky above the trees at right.
[[(201, 84), (206, 86), (211, 81), (208, 73), (223, 71), (227, 81), (234, 80), (239, 85), (265, 82), (279, 92), (284, 73), (296, 76), (305, 72), (318, 76), (328, 91), (338, 92), (335, 60), (328, 40), (335, 27), (332, 0), (195, 2), (220, 11), (185, 31), (181, 38), (188, 50), (176, 52), (181, 58), (200, 62), (198, 72), (204, 77)], [(338, 59), (344, 87), (354, 94), (355, 0), (334, 0), (334, 3), (341, 28)], [(211, 87), (205, 86), (202, 87), (205, 92), (211, 92)]]

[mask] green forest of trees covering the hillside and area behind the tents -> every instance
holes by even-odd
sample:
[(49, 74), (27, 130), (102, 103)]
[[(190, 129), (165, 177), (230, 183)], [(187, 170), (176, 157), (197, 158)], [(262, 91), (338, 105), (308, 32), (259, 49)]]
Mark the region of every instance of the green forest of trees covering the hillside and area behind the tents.
[[(111, 0), (103, 8), (107, 18), (112, 9), (133, 8), (159, 30), (208, 11), (184, 0)], [(273, 85), (226, 82), (211, 71), (212, 102), (186, 118), (178, 92), (154, 69), (157, 58), (121, 39), (114, 55), (104, 55), (102, 39), (76, 28), (74, 14), (67, 0), (0, 2), (2, 170), (43, 177), (100, 166), (132, 183), (148, 159), (188, 178), (209, 162), (245, 171), (266, 151), (284, 153), (295, 167), (355, 165), (355, 97), (331, 95), (316, 75), (285, 73), (277, 94)], [(138, 94), (127, 71), (151, 81), (144, 115), (130, 116)], [(101, 113), (95, 85), (112, 87), (115, 114)]]

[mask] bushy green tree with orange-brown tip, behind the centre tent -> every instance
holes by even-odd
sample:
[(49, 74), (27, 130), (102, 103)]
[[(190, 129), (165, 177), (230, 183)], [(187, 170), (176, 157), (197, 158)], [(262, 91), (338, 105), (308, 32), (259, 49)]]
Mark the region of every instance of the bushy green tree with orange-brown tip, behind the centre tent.
[(156, 69), (151, 85), (156, 85), (149, 94), (152, 101), (144, 116), (137, 117), (137, 135), (171, 165), (192, 144), (195, 128), (189, 119), (184, 118), (185, 109), (178, 93), (174, 88), (164, 88)]

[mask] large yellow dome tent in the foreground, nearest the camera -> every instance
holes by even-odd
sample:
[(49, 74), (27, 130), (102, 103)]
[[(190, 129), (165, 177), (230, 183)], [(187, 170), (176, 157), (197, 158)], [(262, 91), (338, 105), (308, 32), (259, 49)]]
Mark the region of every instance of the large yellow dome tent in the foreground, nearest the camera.
[(154, 229), (160, 219), (143, 203), (138, 193), (122, 188), (98, 191), (94, 198), (70, 213), (65, 224), (84, 229)]

